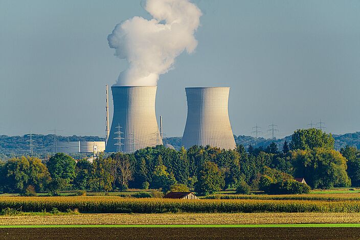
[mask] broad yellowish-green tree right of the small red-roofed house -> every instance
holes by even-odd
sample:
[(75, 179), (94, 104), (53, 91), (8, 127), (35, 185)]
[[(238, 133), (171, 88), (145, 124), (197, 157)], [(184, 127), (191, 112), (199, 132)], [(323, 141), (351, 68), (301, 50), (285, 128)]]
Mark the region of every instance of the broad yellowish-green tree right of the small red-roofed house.
[(312, 188), (348, 187), (351, 185), (346, 158), (340, 152), (325, 148), (291, 152), (294, 176), (305, 178)]

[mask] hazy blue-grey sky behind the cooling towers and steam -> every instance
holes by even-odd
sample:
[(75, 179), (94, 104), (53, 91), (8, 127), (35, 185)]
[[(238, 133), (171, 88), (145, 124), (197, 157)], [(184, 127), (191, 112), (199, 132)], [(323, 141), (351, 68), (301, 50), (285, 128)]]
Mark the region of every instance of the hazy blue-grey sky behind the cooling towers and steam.
[[(193, 2), (197, 49), (158, 84), (167, 136), (183, 134), (188, 86), (231, 87), (236, 135), (257, 123), (267, 137), (272, 121), (289, 135), (320, 118), (328, 132), (360, 131), (360, 1)], [(133, 16), (150, 17), (140, 0), (1, 0), (0, 135), (104, 136), (105, 84), (126, 68), (106, 38)]]

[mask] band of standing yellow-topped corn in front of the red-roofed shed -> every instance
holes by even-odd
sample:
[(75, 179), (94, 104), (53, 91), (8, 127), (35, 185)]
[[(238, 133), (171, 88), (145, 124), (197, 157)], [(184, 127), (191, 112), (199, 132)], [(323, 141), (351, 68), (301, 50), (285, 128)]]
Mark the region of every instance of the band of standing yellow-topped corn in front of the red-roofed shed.
[(167, 213), (167, 212), (360, 212), (360, 201), (299, 200), (173, 200), (124, 199), (119, 197), (0, 197), (0, 209), (24, 212)]

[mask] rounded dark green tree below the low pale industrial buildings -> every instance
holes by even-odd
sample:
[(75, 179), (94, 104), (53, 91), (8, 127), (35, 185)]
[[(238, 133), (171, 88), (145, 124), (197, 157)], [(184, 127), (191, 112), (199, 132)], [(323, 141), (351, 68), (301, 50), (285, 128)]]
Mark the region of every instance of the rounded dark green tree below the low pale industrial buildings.
[(64, 153), (57, 153), (49, 159), (47, 167), (52, 178), (51, 188), (55, 193), (70, 186), (76, 177), (75, 165), (74, 158)]

